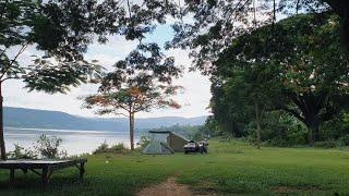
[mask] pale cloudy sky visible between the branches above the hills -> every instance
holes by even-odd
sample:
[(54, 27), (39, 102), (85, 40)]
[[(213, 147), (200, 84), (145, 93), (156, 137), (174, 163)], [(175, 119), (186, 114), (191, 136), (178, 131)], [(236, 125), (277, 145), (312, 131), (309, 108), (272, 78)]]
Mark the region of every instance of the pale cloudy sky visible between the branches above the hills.
[[(156, 41), (161, 46), (166, 40), (170, 40), (172, 30), (169, 26), (159, 26), (152, 35), (148, 35), (146, 39), (147, 41)], [(109, 42), (106, 45), (91, 45), (85, 58), (87, 60), (98, 60), (101, 65), (110, 69), (113, 63), (123, 59), (135, 46), (136, 42), (127, 41), (120, 36), (113, 36), (110, 37)], [(34, 47), (26, 49), (19, 59), (20, 63), (29, 63), (33, 59), (31, 56), (36, 53), (37, 51)], [(174, 100), (182, 105), (182, 108), (158, 109), (148, 113), (140, 112), (136, 117), (192, 118), (209, 114), (209, 110), (207, 109), (210, 98), (210, 83), (208, 77), (201, 75), (198, 72), (188, 72), (188, 69), (191, 65), (191, 60), (188, 57), (189, 51), (169, 50), (166, 51), (166, 53), (174, 57), (177, 65), (183, 65), (185, 68), (183, 76), (174, 79), (176, 85), (182, 85), (184, 87), (183, 94), (173, 97)], [(3, 84), (4, 106), (62, 111), (80, 117), (97, 117), (94, 113), (94, 110), (82, 109), (82, 100), (79, 99), (79, 97), (95, 94), (98, 85), (84, 84), (76, 88), (72, 88), (67, 95), (49, 95), (38, 91), (28, 93), (21, 81), (12, 79), (7, 81)]]

